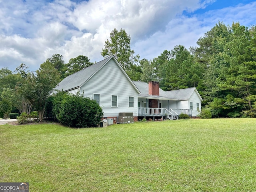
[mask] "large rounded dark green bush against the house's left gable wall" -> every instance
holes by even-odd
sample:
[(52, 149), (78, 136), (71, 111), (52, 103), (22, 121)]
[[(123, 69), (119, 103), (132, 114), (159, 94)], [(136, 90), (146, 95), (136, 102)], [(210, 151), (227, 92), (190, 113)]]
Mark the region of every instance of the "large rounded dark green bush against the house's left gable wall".
[(103, 112), (102, 108), (90, 98), (82, 96), (62, 95), (53, 102), (53, 114), (58, 121), (66, 126), (82, 128), (95, 127), (100, 122)]

